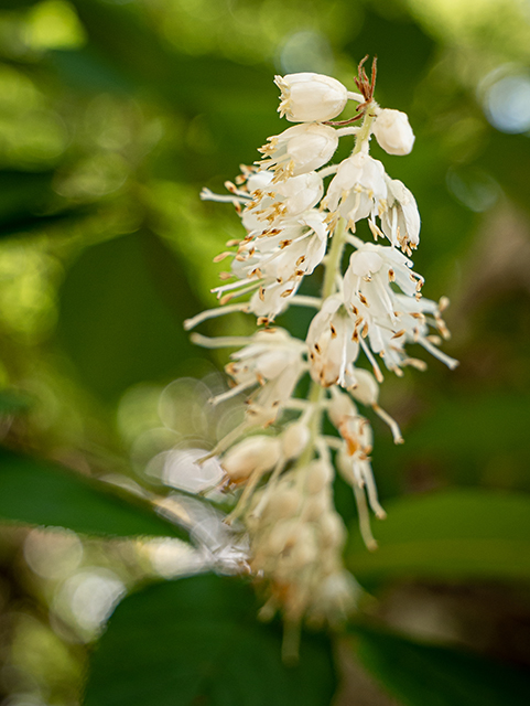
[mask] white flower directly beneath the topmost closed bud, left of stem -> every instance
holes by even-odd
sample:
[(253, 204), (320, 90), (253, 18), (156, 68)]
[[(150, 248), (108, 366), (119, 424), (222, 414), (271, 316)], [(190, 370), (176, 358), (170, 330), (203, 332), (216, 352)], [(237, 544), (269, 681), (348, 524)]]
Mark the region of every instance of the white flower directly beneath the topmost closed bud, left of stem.
[(274, 181), (323, 167), (338, 147), (336, 131), (318, 122), (295, 125), (268, 140), (269, 143), (259, 149), (268, 158), (261, 165), (274, 170)]

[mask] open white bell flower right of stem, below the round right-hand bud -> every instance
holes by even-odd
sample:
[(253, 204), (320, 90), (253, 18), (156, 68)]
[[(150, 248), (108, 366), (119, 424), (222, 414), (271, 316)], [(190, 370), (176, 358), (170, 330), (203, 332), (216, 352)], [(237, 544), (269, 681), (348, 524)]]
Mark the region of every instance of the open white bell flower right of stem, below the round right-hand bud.
[(324, 201), (329, 211), (338, 211), (347, 227), (355, 232), (361, 218), (381, 215), (387, 208), (385, 168), (365, 152), (348, 157), (338, 167)]

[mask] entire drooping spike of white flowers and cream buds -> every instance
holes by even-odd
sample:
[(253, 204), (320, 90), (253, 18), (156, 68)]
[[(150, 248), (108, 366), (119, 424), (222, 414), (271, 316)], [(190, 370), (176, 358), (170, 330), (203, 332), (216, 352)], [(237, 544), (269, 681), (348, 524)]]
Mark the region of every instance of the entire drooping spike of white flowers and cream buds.
[[(186, 328), (231, 311), (252, 313), (263, 327), (249, 339), (195, 334), (195, 341), (242, 344), (227, 366), (234, 386), (214, 402), (249, 392), (246, 420), (214, 453), (228, 486), (245, 486), (227, 522), (237, 520), (249, 533), (249, 565), (270, 596), (264, 610), (281, 609), (290, 625), (304, 616), (333, 621), (347, 613), (356, 592), (340, 561), (345, 528), (333, 505), (332, 453), (354, 489), (365, 541), (376, 546), (367, 503), (376, 516), (385, 512), (370, 467), (370, 426), (356, 403), (371, 407), (394, 441), (402, 441), (397, 422), (378, 405), (378, 360), (398, 375), (407, 365), (421, 370), (424, 363), (408, 352), (419, 343), (450, 367), (457, 364), (437, 347), (448, 338), (441, 317), (447, 302), (422, 297), (423, 278), (409, 259), (420, 239), (415, 200), (369, 154), (371, 135), (390, 154), (408, 154), (414, 142), (407, 115), (374, 100), (374, 68), (369, 81), (359, 66), (360, 93), (318, 74), (278, 76), (280, 114), (299, 125), (269, 138), (261, 161), (241, 168), (235, 184), (227, 182), (227, 195), (202, 193), (231, 202), (245, 236), (216, 258), (231, 260), (213, 290), (221, 307), (188, 320)], [(349, 100), (357, 104), (354, 117), (333, 121)], [(358, 120), (360, 126), (354, 125)], [(350, 156), (327, 165), (339, 139), (351, 137)], [(358, 237), (360, 221), (367, 221), (374, 242)], [(345, 249), (349, 260), (343, 271)], [(304, 277), (320, 265), (322, 296), (300, 295)], [(245, 295), (250, 297), (232, 301)], [(305, 341), (271, 325), (290, 304), (316, 309)], [(372, 372), (357, 366), (361, 357)], [(312, 387), (309, 398), (300, 399), (294, 391), (307, 372)], [(285, 409), (300, 418), (282, 429)], [(322, 432), (324, 415), (336, 436)], [(256, 434), (260, 427), (267, 432)]]

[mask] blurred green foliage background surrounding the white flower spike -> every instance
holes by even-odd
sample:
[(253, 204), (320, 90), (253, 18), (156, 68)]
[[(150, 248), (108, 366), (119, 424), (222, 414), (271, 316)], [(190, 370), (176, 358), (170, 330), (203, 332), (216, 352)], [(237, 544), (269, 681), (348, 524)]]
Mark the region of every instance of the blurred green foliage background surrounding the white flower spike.
[[(365, 54), (376, 98), (417, 133), (410, 157), (383, 160), (417, 196), (414, 263), (426, 296), (452, 300), (444, 350), (461, 366), (387, 376), (381, 404), (407, 442), (372, 419), (378, 553), (336, 485), (369, 596), (347, 634), (304, 638), (290, 670), (244, 582), (156, 569), (158, 545), (138, 537), (187, 535), (174, 507), (151, 512), (174, 498), (145, 467), (198, 434), (193, 384), (172, 381), (219, 385), (226, 363), (182, 328), (214, 306), (212, 259), (238, 234), (201, 188), (221, 191), (285, 127), (274, 73), (351, 86)], [(523, 0), (0, 2), (2, 704), (528, 703), (530, 121), (496, 128), (491, 96), (518, 77), (501, 114), (528, 116), (529, 64)], [(306, 320), (282, 323), (303, 334)], [(204, 332), (224, 327), (252, 330), (235, 317)], [(167, 397), (174, 424), (159, 416)], [(39, 569), (31, 526), (80, 533), (61, 536), (82, 558), (43, 554)], [(115, 587), (111, 605), (137, 591), (99, 648), (108, 616), (82, 624), (72, 609), (89, 575)]]

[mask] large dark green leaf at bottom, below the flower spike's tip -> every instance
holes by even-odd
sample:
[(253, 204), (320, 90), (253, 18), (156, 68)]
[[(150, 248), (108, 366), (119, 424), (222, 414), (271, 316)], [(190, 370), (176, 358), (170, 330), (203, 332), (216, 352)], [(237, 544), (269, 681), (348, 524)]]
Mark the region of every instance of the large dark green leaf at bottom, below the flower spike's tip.
[(328, 641), (302, 640), (299, 665), (286, 667), (279, 628), (256, 613), (248, 586), (212, 575), (127, 598), (93, 655), (85, 706), (329, 704)]

